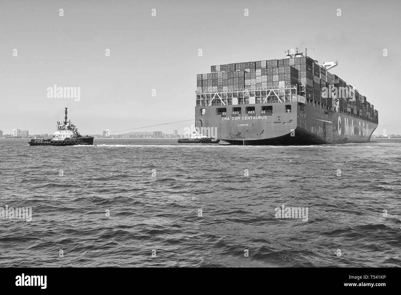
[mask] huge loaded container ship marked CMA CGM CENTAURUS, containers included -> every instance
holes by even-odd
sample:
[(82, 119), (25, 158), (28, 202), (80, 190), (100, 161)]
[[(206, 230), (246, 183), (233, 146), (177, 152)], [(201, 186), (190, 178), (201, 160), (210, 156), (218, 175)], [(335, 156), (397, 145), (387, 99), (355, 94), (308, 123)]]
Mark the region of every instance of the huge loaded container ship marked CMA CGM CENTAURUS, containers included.
[(378, 112), (358, 90), (304, 53), (212, 65), (197, 75), (195, 127), (231, 144), (367, 142)]

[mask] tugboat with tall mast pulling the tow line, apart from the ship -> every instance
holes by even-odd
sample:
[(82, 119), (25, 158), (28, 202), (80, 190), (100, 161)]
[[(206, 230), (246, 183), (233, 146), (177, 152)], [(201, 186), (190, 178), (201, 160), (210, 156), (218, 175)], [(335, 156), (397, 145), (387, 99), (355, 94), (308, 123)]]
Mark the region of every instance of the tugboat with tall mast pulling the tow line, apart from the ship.
[(67, 108), (65, 108), (64, 124), (57, 122), (57, 131), (53, 133), (53, 137), (49, 139), (31, 139), (29, 145), (93, 145), (93, 136), (82, 136), (78, 132), (78, 128), (71, 124), (71, 120), (67, 121)]

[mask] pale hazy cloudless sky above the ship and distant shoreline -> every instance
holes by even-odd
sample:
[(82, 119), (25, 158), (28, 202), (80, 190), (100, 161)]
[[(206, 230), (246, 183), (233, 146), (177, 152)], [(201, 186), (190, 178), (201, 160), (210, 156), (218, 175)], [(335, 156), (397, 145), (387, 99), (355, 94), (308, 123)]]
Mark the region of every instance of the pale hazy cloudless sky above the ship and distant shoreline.
[[(309, 55), (337, 60), (330, 72), (379, 111), (375, 134), (401, 134), (400, 3), (1, 0), (0, 129), (53, 133), (65, 107), (85, 134), (194, 119), (196, 74), (314, 47)], [(48, 98), (54, 84), (80, 87), (80, 100)], [(182, 134), (190, 124), (146, 131)]]

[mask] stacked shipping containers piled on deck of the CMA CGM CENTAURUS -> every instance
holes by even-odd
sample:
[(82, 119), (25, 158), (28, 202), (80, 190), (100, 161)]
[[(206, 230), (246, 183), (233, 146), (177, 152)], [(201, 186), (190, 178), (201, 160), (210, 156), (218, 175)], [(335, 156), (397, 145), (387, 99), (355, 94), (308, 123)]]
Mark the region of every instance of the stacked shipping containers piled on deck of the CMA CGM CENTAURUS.
[[(289, 85), (299, 85), (299, 94), (309, 100), (332, 106), (338, 98), (341, 110), (372, 120), (378, 119), (377, 110), (367, 102), (365, 96), (310, 57), (212, 65), (211, 73), (196, 76), (197, 93), (279, 89)], [(337, 96), (333, 96), (334, 92), (331, 98), (322, 95), (322, 88), (330, 85), (337, 89)], [(342, 87), (345, 92), (339, 95)], [(344, 94), (351, 89), (354, 90), (354, 98), (344, 98)]]

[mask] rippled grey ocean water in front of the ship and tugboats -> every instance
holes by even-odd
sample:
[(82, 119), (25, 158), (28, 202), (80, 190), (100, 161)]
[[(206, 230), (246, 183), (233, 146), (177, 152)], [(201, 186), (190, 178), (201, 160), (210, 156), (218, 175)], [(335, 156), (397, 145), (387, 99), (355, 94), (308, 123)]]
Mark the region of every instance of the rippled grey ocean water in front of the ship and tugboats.
[[(31, 221), (0, 218), (2, 267), (401, 263), (400, 139), (322, 146), (27, 141), (0, 139), (0, 210), (32, 210)], [(303, 218), (276, 218), (282, 206), (301, 208)]]

